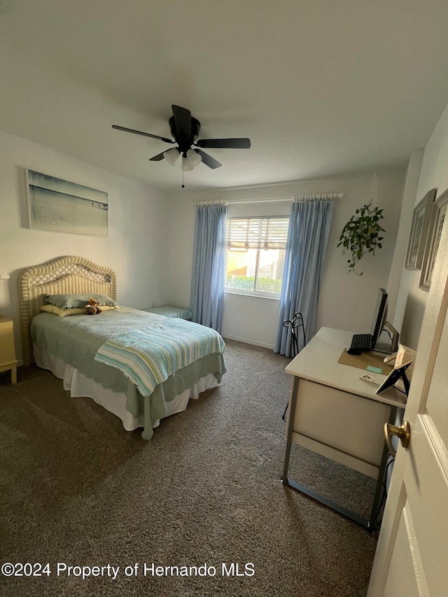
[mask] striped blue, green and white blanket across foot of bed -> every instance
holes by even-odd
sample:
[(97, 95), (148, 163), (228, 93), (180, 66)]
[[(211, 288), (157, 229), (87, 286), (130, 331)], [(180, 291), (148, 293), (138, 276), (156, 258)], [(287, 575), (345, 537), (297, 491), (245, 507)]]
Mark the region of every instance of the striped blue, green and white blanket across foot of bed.
[(148, 396), (155, 386), (195, 361), (223, 353), (225, 344), (215, 330), (183, 319), (169, 319), (119, 334), (99, 347), (95, 360), (116, 367)]

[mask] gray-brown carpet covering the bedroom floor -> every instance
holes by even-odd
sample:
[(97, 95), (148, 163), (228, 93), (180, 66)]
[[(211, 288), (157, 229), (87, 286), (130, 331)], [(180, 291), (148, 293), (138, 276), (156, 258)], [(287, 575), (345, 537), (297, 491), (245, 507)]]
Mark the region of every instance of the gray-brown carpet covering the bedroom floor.
[[(221, 386), (162, 421), (151, 442), (69, 398), (50, 372), (21, 367), (16, 386), (0, 375), (1, 562), (51, 572), (0, 577), (2, 595), (366, 594), (375, 535), (281, 484), (289, 359), (226, 346)], [(300, 447), (290, 471), (368, 513), (371, 479)], [(57, 563), (120, 569), (83, 580), (78, 568), (58, 575)], [(152, 575), (152, 563), (207, 564), (209, 575)]]

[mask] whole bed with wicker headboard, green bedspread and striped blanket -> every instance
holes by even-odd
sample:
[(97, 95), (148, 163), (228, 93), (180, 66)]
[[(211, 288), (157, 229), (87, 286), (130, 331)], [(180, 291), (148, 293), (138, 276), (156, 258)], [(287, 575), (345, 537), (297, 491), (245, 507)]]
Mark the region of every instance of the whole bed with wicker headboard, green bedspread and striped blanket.
[(144, 440), (225, 373), (223, 339), (202, 325), (122, 305), (93, 316), (41, 311), (48, 295), (116, 302), (115, 272), (85, 258), (27, 267), (19, 293), (24, 364), (50, 370), (71, 397), (92, 398), (126, 430), (143, 428)]

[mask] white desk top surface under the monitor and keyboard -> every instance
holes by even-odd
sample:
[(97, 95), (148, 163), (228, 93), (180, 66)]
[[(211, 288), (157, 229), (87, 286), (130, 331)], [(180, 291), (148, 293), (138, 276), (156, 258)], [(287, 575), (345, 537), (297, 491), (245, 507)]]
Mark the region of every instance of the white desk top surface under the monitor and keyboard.
[[(318, 384), (364, 396), (377, 402), (405, 408), (406, 396), (403, 393), (395, 388), (388, 388), (381, 394), (377, 394), (375, 386), (359, 379), (360, 375), (363, 375), (362, 369), (337, 362), (344, 348), (350, 346), (352, 336), (353, 332), (321, 328), (286, 367), (286, 372), (295, 377), (316, 381)], [(373, 373), (372, 377), (386, 379), (386, 375), (378, 373)]]

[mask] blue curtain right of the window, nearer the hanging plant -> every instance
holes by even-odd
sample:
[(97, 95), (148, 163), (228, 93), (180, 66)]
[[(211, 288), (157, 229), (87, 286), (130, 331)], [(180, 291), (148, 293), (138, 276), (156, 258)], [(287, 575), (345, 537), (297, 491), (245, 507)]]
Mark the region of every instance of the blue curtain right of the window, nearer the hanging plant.
[[(303, 316), (307, 341), (316, 333), (316, 309), (323, 260), (333, 202), (327, 200), (298, 201), (291, 206), (285, 267), (280, 295), (279, 331), (274, 352), (292, 356), (291, 329), (283, 321), (292, 320), (296, 311)], [(299, 350), (303, 348), (298, 335)]]

